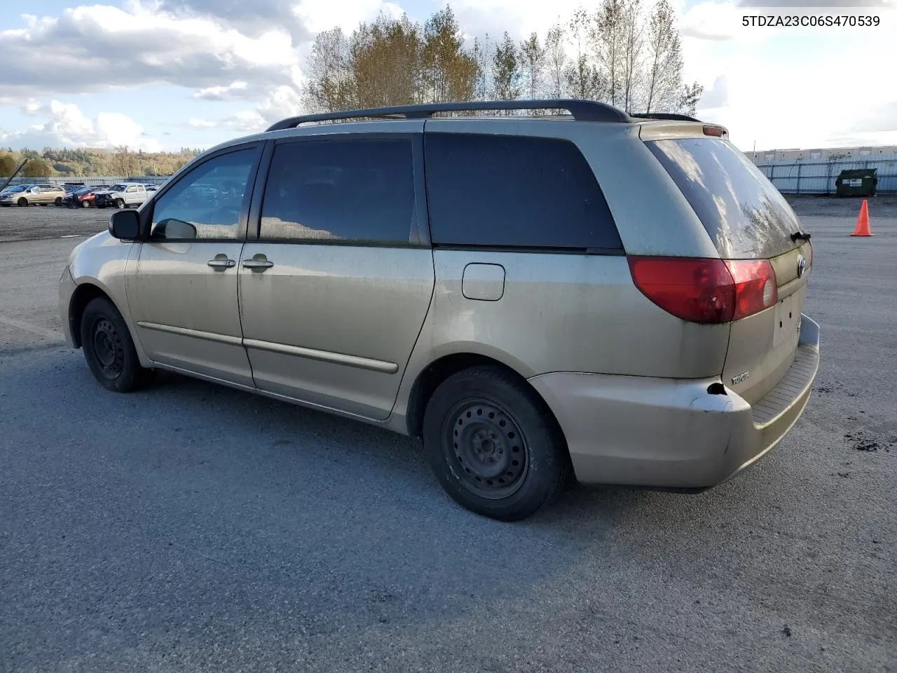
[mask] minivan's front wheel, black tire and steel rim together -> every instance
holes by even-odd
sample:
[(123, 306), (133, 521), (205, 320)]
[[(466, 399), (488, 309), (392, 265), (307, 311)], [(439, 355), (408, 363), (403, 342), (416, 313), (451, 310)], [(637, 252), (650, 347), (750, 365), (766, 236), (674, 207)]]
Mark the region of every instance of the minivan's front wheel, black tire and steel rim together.
[(84, 309), (81, 345), (94, 378), (113, 392), (141, 389), (155, 376), (155, 371), (141, 366), (125, 319), (104, 297), (91, 300)]

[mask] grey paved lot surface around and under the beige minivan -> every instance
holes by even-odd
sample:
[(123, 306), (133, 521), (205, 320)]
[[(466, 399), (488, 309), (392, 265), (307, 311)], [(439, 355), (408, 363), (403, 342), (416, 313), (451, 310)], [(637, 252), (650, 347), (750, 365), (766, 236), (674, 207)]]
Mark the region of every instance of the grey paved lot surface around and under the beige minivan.
[[(418, 445), (61, 345), (108, 211), (0, 209), (0, 671), (897, 670), (897, 199), (800, 199), (823, 369), (698, 495), (576, 488), (500, 524)], [(19, 238), (49, 238), (22, 240)]]

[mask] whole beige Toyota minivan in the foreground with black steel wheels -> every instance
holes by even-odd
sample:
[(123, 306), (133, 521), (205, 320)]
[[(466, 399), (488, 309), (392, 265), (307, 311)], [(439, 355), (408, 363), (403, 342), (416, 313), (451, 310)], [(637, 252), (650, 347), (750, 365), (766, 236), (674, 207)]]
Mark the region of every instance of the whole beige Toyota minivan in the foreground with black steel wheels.
[[(431, 118), (534, 107), (570, 116)], [(519, 520), (570, 473), (695, 491), (776, 446), (820, 361), (809, 239), (695, 118), (351, 110), (196, 157), (74, 249), (59, 309), (107, 389), (178, 371), (420, 437)]]

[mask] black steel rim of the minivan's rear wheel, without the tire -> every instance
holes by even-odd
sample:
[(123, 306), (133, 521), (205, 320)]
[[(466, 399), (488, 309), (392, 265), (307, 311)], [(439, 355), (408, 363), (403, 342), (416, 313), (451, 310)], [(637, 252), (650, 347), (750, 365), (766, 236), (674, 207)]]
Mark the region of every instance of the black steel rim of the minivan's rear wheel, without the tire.
[(515, 493), (527, 474), (528, 451), (517, 422), (484, 400), (466, 400), (446, 416), (443, 450), (458, 480), (490, 500)]

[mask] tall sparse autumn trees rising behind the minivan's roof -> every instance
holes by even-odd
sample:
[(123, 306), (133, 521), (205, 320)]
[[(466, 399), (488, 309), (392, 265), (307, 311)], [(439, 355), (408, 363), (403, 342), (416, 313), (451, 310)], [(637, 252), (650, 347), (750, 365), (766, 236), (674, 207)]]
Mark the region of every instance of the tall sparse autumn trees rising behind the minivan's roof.
[(450, 5), (426, 22), (380, 13), (351, 35), (318, 34), (303, 103), (312, 112), (426, 102), (577, 98), (627, 112), (694, 114), (703, 87), (683, 81), (668, 0), (601, 0), (544, 35), (505, 31), (467, 44)]

